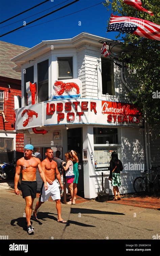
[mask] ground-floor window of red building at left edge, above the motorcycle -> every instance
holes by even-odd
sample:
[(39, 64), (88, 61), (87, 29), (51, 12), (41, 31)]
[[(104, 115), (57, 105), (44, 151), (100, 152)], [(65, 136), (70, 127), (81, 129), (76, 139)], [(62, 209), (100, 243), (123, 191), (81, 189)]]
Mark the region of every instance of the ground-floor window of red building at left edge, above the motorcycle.
[(13, 160), (13, 139), (0, 138), (0, 163)]

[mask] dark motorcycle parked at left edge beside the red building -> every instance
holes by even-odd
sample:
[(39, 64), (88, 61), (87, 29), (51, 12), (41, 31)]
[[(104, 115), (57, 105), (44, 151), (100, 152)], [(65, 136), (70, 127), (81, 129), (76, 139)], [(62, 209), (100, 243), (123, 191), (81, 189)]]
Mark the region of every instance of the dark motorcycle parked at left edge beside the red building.
[(11, 163), (4, 163), (0, 167), (0, 179), (7, 180), (7, 179), (14, 179), (16, 172), (16, 162)]

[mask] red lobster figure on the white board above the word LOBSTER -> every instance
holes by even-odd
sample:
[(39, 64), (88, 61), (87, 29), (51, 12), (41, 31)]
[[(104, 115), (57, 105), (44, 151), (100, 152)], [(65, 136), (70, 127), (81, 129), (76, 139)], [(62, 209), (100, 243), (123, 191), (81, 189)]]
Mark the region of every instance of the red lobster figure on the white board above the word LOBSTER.
[(64, 91), (66, 93), (72, 92), (74, 88), (76, 89), (76, 94), (79, 94), (79, 86), (76, 83), (63, 83), (62, 81), (56, 81), (54, 86), (56, 86), (57, 89), (55, 95), (62, 95)]

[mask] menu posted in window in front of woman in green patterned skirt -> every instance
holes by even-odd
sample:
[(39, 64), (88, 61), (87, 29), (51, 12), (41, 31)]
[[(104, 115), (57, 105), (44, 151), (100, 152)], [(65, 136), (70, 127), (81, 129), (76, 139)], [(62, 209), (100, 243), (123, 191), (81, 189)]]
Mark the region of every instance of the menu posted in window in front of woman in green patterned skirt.
[(111, 154), (117, 147), (94, 147), (95, 170), (109, 170)]

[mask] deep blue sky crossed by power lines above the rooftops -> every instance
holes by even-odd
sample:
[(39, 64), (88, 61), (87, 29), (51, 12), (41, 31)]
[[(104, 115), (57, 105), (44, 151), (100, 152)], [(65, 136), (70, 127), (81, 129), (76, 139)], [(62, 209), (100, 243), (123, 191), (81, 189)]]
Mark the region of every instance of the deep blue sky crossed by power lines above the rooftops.
[[(43, 1), (44, 0), (34, 0), (34, 1), (32, 0), (27, 0), (27, 1), (26, 0), (25, 1), (1, 0), (0, 1), (1, 21), (6, 20), (7, 18), (10, 18)], [(68, 0), (68, 1), (54, 0), (52, 2), (50, 0), (49, 2), (44, 3), (34, 8), (33, 10), (30, 10), (14, 19), (11, 19), (5, 23), (0, 24), (0, 28), (1, 28), (0, 34), (6, 33), (12, 29), (22, 26), (24, 21), (26, 21), (26, 23), (30, 22), (72, 1), (73, 0)], [(97, 36), (102, 36), (109, 39), (115, 39), (117, 32), (108, 32), (106, 34), (107, 21), (109, 20), (111, 11), (107, 11), (107, 9), (103, 6), (103, 4), (99, 4), (89, 9), (80, 11), (79, 13), (57, 19), (61, 16), (73, 13), (75, 11), (87, 8), (89, 6), (92, 6), (101, 2), (103, 2), (103, 0), (79, 0), (79, 2), (76, 2), (73, 5), (70, 5), (62, 10), (59, 10), (56, 13), (49, 15), (48, 17), (45, 17), (39, 21), (36, 21), (26, 27), (24, 26), (24, 28), (22, 28), (21, 30), (17, 30), (6, 36), (1, 37), (0, 40), (9, 42), (12, 44), (26, 46), (26, 47), (33, 47), (34, 45), (40, 43), (42, 40), (72, 38), (81, 32), (88, 32), (91, 34), (95, 34)], [(51, 8), (51, 9), (46, 10), (43, 13), (37, 14), (38, 12), (48, 8)], [(34, 16), (27, 18), (31, 15), (34, 15)], [(53, 19), (57, 19), (57, 20), (53, 20)], [(50, 20), (53, 20), (53, 21), (50, 21)], [(50, 21), (50, 22), (44, 23), (46, 21)], [(81, 26), (79, 26), (80, 24), (79, 21), (81, 21)], [(14, 23), (14, 22), (17, 22), (17, 23)], [(35, 26), (40, 23), (44, 23), (44, 24)], [(9, 25), (9, 26), (6, 26), (6, 25)], [(6, 26), (6, 27), (3, 27), (3, 26)]]

